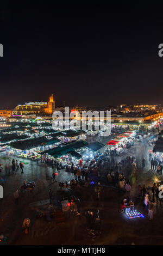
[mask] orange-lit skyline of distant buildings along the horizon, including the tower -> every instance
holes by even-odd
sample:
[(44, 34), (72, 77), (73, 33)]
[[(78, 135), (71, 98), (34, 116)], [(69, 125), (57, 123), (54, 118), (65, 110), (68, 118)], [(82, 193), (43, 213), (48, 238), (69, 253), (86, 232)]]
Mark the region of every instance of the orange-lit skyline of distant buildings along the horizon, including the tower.
[[(65, 101), (64, 101), (65, 102)], [(24, 105), (17, 105), (14, 109), (3, 109), (0, 110), (0, 117), (4, 118), (34, 118), (37, 116), (52, 118), (54, 111), (64, 112), (64, 106), (55, 107), (55, 101), (53, 94), (49, 97), (48, 102), (28, 102)], [(75, 106), (70, 108), (71, 111), (78, 111), (82, 114), (83, 111), (111, 111), (111, 121), (139, 121), (145, 120), (156, 120), (163, 117), (163, 108), (161, 105), (118, 105), (116, 107), (105, 106), (103, 108), (91, 108), (83, 106)]]

